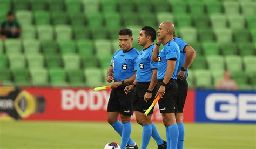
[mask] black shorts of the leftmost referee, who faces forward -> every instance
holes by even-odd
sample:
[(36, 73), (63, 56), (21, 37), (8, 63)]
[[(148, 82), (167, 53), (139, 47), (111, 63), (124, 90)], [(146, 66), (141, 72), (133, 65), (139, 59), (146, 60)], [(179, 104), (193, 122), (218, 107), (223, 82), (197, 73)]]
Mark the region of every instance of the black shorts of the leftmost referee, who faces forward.
[(110, 93), (109, 103), (107, 104), (107, 112), (120, 112), (120, 114), (131, 116), (133, 114), (132, 96), (134, 91), (127, 95), (124, 92), (126, 86), (119, 86), (112, 89)]

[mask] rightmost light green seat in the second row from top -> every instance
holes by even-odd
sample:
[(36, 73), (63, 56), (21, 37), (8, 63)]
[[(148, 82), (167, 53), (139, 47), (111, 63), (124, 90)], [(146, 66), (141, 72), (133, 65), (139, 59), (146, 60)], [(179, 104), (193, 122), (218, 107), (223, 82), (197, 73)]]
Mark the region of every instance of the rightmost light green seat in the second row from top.
[(227, 16), (230, 28), (233, 30), (243, 29), (245, 27), (244, 16), (242, 15), (229, 15)]

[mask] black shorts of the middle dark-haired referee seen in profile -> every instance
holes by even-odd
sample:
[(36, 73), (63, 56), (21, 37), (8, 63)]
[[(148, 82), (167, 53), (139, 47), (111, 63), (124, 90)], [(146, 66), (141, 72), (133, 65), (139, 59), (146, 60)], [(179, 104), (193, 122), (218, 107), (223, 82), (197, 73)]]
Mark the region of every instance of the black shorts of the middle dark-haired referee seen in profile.
[[(150, 82), (137, 82), (134, 89), (134, 98), (133, 98), (133, 106), (135, 111), (139, 111), (141, 113), (145, 113), (146, 110), (151, 106), (154, 101), (154, 96), (156, 96), (156, 87), (152, 91), (152, 98), (150, 100), (144, 101), (144, 95), (149, 89)], [(154, 107), (150, 110), (149, 115), (154, 111)]]

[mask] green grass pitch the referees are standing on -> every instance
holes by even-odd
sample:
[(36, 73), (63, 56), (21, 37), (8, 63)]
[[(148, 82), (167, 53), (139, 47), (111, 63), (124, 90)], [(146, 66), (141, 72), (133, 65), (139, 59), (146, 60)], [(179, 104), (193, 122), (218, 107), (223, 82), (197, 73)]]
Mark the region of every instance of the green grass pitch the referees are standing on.
[[(161, 137), (165, 127), (155, 123)], [(185, 123), (186, 149), (256, 148), (256, 125), (253, 124), (189, 124)], [(142, 126), (132, 123), (131, 137), (141, 146)], [(16, 121), (0, 122), (0, 148), (104, 148), (120, 137), (107, 123)], [(151, 138), (149, 149), (157, 148)]]

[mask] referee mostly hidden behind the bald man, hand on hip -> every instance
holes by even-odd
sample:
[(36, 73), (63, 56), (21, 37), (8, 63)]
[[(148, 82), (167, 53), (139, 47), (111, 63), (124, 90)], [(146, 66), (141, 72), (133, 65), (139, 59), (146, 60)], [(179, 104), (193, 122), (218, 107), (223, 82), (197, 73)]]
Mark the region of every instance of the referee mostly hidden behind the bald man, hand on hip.
[(183, 149), (185, 129), (183, 125), (183, 108), (187, 97), (188, 84), (186, 81), (188, 74), (188, 67), (192, 64), (194, 58), (196, 57), (196, 51), (192, 46), (184, 42), (183, 39), (177, 38), (175, 33), (173, 35), (174, 41), (178, 44), (180, 49), (180, 60), (177, 75), (177, 100), (175, 106), (175, 118), (179, 129), (179, 137), (177, 149)]

